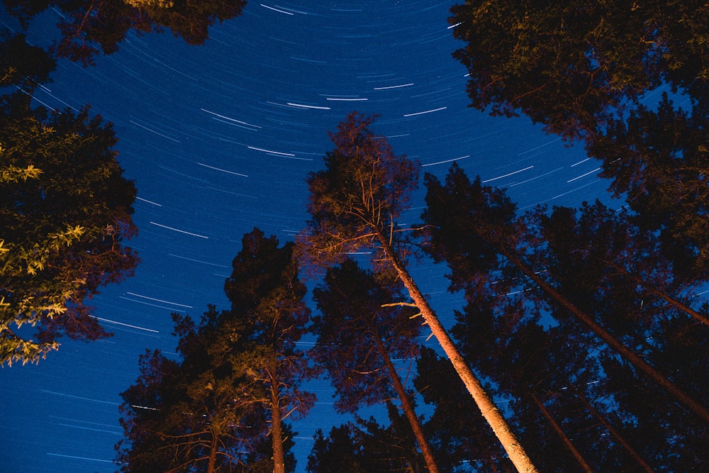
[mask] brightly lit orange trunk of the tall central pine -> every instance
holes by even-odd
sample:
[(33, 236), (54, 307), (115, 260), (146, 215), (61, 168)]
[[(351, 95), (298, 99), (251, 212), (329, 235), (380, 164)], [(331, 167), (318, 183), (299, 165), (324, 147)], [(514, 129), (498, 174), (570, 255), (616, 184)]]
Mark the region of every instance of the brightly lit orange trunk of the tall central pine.
[(401, 282), (403, 282), (403, 285), (406, 286), (409, 295), (411, 295), (411, 299), (413, 299), (416, 307), (421, 312), (421, 316), (423, 316), (426, 323), (428, 323), (431, 332), (437, 338), (438, 343), (440, 343), (443, 351), (458, 373), (458, 376), (462, 379), (463, 384), (465, 384), (475, 404), (480, 409), (482, 416), (487, 423), (489, 423), (498, 440), (500, 440), (510, 460), (512, 460), (515, 468), (517, 468), (517, 471), (520, 473), (537, 472), (537, 468), (532, 464), (532, 461), (527, 456), (527, 452), (525, 452), (524, 448), (515, 437), (515, 434), (510, 430), (510, 426), (507, 421), (505, 421), (502, 413), (497, 406), (495, 406), (480, 380), (465, 363), (457, 347), (453, 344), (453, 340), (451, 340), (435, 312), (428, 305), (428, 301), (426, 301), (425, 297), (418, 289), (418, 286), (413, 281), (411, 274), (408, 274), (403, 263), (399, 260), (398, 255), (396, 255), (396, 252), (394, 252), (389, 243), (389, 239), (387, 239), (380, 230), (376, 230), (376, 236), (382, 249), (386, 253), (386, 257), (393, 265), (398, 277), (401, 279)]

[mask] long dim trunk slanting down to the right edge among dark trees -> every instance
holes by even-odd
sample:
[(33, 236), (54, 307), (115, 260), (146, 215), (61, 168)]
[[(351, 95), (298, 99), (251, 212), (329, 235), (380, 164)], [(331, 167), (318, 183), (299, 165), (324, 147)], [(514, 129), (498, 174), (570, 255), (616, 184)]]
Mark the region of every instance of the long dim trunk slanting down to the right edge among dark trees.
[(530, 269), (526, 265), (523, 265), (523, 263), (517, 257), (510, 255), (510, 252), (504, 249), (502, 249), (501, 252), (511, 262), (513, 262), (513, 264), (518, 267), (521, 272), (523, 272), (527, 277), (532, 279), (533, 282), (540, 286), (542, 291), (545, 291), (545, 293), (551, 296), (552, 299), (557, 301), (557, 303), (559, 303), (562, 307), (573, 313), (574, 316), (576, 316), (581, 322), (586, 324), (586, 326), (590, 328), (593, 333), (598, 335), (601, 340), (603, 340), (605, 343), (608, 344), (608, 346), (613, 348), (613, 350), (622, 355), (625, 360), (629, 361), (637, 369), (640, 369), (641, 372), (643, 372), (650, 379), (656, 382), (662, 389), (667, 391), (671, 396), (674, 396), (674, 399), (679, 401), (681, 404), (684, 404), (684, 406), (689, 408), (693, 413), (696, 413), (698, 416), (700, 416), (703, 421), (709, 423), (709, 409), (705, 408), (697, 401), (692, 399), (690, 396), (685, 394), (683, 391), (681, 391), (681, 389), (677, 388), (677, 386), (675, 386), (671, 381), (669, 381), (669, 379), (664, 377), (663, 374), (657, 371), (657, 369), (654, 369), (652, 366), (648, 365), (647, 362), (645, 362), (645, 360), (643, 360), (635, 352), (632, 352), (625, 345), (620, 343), (620, 341), (618, 341), (618, 339), (608, 333), (605, 328), (601, 327), (601, 325), (598, 325), (598, 323), (593, 321), (593, 319), (589, 317), (588, 314), (586, 314), (584, 311), (581, 311), (581, 309), (574, 306), (574, 304), (569, 301), (569, 299), (566, 299), (566, 297), (562, 296), (562, 294), (559, 293), (559, 291), (557, 291), (556, 289), (554, 289), (551, 284), (547, 283), (544, 279), (535, 274), (532, 269)]

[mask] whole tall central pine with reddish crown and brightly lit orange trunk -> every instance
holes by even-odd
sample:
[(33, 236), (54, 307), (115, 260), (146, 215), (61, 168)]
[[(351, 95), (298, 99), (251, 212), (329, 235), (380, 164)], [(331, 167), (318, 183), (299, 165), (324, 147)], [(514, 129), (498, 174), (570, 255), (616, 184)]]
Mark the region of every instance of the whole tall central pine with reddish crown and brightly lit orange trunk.
[(386, 139), (374, 136), (369, 130), (373, 120), (350, 113), (330, 135), (335, 149), (325, 156), (325, 169), (308, 175), (311, 219), (299, 239), (306, 257), (326, 266), (347, 252), (372, 250), (376, 267), (401, 279), (515, 466), (520, 472), (536, 471), (406, 270), (403, 231), (411, 229), (399, 230), (394, 220), (406, 208), (418, 172), (413, 162), (394, 154)]

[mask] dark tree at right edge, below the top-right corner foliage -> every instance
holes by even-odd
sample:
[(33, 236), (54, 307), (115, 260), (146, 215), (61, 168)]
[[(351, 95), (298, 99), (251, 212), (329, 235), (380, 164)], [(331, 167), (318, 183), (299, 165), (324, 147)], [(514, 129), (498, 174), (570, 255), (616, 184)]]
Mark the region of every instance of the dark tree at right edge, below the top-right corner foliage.
[(676, 279), (709, 279), (709, 113), (695, 104), (691, 114), (663, 94), (657, 110), (638, 106), (608, 123), (588, 146), (603, 161), (601, 177), (625, 197), (633, 222), (659, 233), (657, 250), (673, 263)]

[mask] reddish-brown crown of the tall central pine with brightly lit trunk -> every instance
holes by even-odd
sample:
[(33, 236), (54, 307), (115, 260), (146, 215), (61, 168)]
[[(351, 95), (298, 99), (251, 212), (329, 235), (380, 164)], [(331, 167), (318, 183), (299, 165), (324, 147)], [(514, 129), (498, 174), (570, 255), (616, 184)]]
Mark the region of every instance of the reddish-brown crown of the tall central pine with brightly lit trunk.
[(418, 165), (375, 136), (373, 122), (350, 113), (330, 134), (335, 149), (325, 155), (325, 169), (308, 175), (311, 219), (301, 240), (316, 262), (340, 261), (371, 247), (376, 233), (388, 235), (417, 186)]

